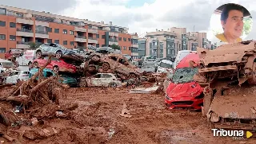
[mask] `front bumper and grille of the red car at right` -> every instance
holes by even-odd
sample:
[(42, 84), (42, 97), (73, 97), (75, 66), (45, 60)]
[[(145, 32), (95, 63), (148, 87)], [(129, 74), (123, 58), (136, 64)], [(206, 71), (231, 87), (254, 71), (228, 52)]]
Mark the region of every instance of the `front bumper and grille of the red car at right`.
[(203, 98), (194, 99), (196, 97), (178, 97), (178, 98), (165, 98), (166, 107), (169, 109), (190, 109), (201, 110), (203, 104)]

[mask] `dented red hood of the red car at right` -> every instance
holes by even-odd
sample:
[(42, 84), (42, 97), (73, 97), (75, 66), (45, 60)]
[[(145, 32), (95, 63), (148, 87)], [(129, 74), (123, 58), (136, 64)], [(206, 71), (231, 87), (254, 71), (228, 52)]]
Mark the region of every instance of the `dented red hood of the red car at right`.
[(189, 82), (184, 84), (170, 83), (166, 89), (166, 94), (169, 97), (194, 97), (202, 93), (203, 88), (196, 82)]

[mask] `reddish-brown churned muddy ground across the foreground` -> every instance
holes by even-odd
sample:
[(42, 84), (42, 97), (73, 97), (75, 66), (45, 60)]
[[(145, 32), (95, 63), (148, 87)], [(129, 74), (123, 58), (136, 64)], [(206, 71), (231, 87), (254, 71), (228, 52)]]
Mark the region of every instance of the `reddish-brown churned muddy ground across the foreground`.
[[(5, 88), (1, 93), (6, 91), (10, 90)], [(78, 103), (70, 118), (42, 119), (35, 126), (5, 127), (6, 133), (17, 141), (7, 142), (1, 137), (0, 141), (24, 144), (256, 143), (254, 138), (214, 137), (201, 112), (169, 111), (163, 95), (129, 94), (128, 89), (111, 88), (70, 88), (62, 92), (67, 97), (62, 97), (60, 103)], [(130, 118), (120, 116), (123, 103), (130, 111)], [(6, 102), (0, 102), (0, 106), (13, 108)], [(50, 132), (42, 136), (42, 132), (25, 134), (26, 130)]]

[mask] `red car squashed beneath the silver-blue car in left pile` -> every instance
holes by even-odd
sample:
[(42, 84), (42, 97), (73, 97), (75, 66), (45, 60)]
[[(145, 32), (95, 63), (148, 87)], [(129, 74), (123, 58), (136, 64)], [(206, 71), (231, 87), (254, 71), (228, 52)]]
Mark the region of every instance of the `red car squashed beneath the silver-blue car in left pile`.
[[(48, 56), (44, 57), (43, 59), (35, 59), (33, 61), (34, 68), (41, 68), (43, 64), (46, 64), (48, 60)], [(51, 57), (51, 63), (46, 66), (46, 68), (51, 69), (54, 73), (58, 72), (70, 72), (75, 73), (77, 72), (76, 66), (73, 64), (67, 64), (63, 59), (57, 59), (56, 57)]]

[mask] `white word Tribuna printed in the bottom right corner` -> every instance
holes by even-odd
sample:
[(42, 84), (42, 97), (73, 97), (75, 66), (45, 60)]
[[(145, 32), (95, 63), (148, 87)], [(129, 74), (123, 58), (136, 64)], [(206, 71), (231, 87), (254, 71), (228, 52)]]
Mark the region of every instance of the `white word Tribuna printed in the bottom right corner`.
[(214, 137), (243, 137), (243, 130), (223, 130), (223, 129), (211, 129), (214, 131)]

